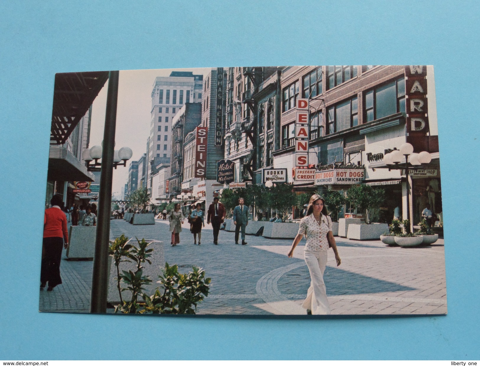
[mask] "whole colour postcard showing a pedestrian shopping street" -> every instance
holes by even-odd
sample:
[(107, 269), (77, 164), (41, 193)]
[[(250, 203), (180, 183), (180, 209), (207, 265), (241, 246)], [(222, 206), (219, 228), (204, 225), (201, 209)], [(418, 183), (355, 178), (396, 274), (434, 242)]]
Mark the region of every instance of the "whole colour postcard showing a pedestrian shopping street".
[(447, 313), (432, 66), (58, 73), (47, 180), (40, 311)]

